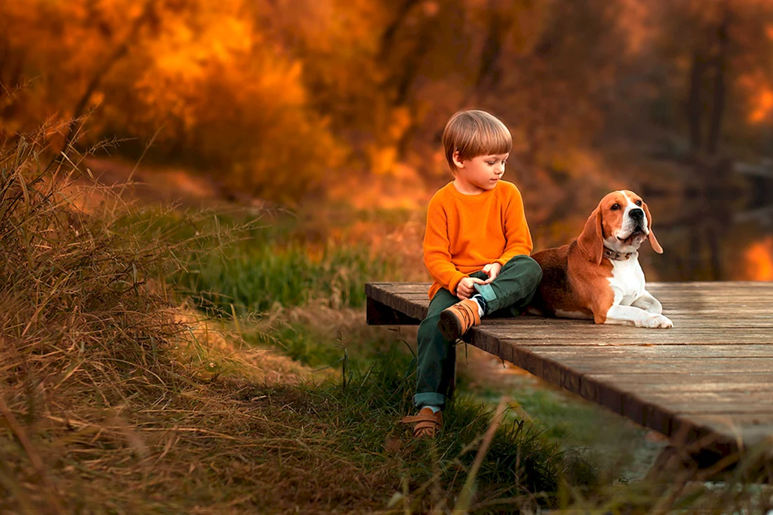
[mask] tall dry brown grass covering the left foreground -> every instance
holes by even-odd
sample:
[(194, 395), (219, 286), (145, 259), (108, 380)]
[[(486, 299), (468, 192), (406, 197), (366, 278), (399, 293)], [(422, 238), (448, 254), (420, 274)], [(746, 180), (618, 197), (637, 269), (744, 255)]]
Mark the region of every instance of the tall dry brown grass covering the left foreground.
[(77, 163), (41, 163), (45, 133), (0, 155), (0, 509), (276, 506), (281, 471), (318, 455), (272, 413), (308, 404), (286, 386), (308, 371), (179, 309), (164, 278), (196, 241), (138, 237), (120, 201), (80, 210)]

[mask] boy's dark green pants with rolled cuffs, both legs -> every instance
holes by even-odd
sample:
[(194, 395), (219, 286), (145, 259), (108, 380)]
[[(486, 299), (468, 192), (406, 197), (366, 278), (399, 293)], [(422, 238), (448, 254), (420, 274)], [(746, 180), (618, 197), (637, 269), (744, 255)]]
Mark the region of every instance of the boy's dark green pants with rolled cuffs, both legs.
[[(482, 271), (470, 277), (487, 279)], [(536, 292), (542, 279), (542, 269), (531, 257), (518, 255), (508, 261), (499, 275), (488, 285), (475, 285), (475, 290), (485, 298), (486, 316), (517, 316)], [(456, 295), (441, 288), (430, 302), (427, 318), (419, 326), (417, 385), (414, 405), (445, 407), (450, 396), (451, 383), (456, 373), (456, 342), (444, 339), (438, 329), (441, 312), (459, 302)]]

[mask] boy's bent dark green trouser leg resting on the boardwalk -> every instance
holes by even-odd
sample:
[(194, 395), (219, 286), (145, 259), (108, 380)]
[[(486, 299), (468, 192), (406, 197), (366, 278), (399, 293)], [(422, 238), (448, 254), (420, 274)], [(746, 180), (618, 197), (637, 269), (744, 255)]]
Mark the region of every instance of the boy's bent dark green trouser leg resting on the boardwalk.
[[(482, 272), (471, 277), (485, 278)], [(531, 257), (521, 254), (507, 261), (499, 275), (488, 285), (475, 285), (475, 291), (485, 300), (486, 314), (509, 309), (512, 315), (520, 315), (529, 305), (542, 280), (542, 268)]]

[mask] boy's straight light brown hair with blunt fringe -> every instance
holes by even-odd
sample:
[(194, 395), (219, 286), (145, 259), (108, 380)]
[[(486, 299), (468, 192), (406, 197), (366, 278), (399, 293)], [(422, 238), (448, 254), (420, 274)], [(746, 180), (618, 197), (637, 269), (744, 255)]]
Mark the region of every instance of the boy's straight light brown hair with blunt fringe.
[(459, 152), (460, 160), (506, 154), (512, 149), (512, 135), (493, 114), (477, 109), (458, 111), (445, 124), (443, 148), (451, 172), (456, 172), (455, 152)]

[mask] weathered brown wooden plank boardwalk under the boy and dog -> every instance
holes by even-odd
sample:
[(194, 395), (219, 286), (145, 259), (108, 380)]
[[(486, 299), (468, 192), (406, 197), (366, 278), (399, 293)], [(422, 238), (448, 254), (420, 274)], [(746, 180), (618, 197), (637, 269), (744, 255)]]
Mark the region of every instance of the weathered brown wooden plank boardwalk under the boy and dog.
[[(368, 323), (409, 325), (428, 283), (369, 283)], [(773, 442), (773, 283), (647, 283), (673, 329), (523, 315), (465, 340), (550, 383), (722, 454)], [(717, 448), (718, 446), (718, 448)]]

